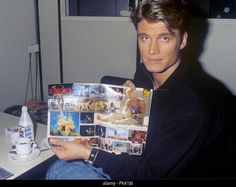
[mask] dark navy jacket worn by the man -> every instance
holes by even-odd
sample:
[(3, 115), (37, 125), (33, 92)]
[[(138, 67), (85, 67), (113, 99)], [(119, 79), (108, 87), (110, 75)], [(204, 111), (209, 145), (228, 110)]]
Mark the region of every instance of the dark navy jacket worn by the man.
[[(152, 76), (141, 64), (137, 87), (152, 88)], [(95, 165), (112, 179), (224, 177), (226, 134), (224, 107), (215, 81), (181, 63), (154, 91), (143, 155), (100, 151)]]

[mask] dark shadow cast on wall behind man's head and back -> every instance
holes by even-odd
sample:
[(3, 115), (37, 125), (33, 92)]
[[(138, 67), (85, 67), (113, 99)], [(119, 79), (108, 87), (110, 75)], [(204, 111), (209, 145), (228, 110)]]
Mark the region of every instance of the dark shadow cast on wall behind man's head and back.
[[(208, 74), (202, 67), (202, 62), (199, 61), (199, 57), (204, 50), (204, 42), (208, 35), (209, 23), (205, 19), (204, 13), (198, 19), (194, 19), (195, 14), (199, 14), (201, 10), (197, 7), (192, 8), (190, 28), (188, 31), (188, 46), (183, 50), (183, 60), (190, 64), (192, 73), (197, 76), (204, 77), (204, 80), (209, 81), (213, 85), (214, 90), (219, 92), (223, 98), (224, 105), (224, 131), (226, 132), (225, 137), (225, 166), (231, 167), (232, 169), (236, 166), (236, 138), (234, 138), (234, 132), (236, 131), (236, 119), (235, 106), (236, 106), (236, 96), (224, 85), (220, 80)], [(199, 83), (201, 84), (201, 83)], [(232, 174), (229, 171), (229, 175), (236, 177), (236, 174)]]

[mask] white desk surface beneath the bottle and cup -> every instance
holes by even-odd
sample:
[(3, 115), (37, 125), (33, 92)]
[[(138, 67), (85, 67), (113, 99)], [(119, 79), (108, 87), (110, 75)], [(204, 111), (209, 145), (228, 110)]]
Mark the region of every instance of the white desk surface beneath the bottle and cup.
[[(39, 167), (40, 164), (47, 160), (52, 159), (54, 153), (51, 150), (43, 151), (40, 156), (32, 161), (17, 162), (8, 158), (8, 152), (11, 149), (11, 142), (5, 137), (5, 129), (8, 127), (16, 126), (18, 124), (19, 117), (5, 114), (0, 112), (0, 166), (14, 173), (13, 176), (8, 179), (26, 177), (26, 173), (30, 173), (34, 168)], [(35, 141), (40, 145), (41, 141), (46, 138), (47, 126), (38, 123), (36, 126)], [(55, 157), (55, 156), (54, 156)], [(47, 164), (49, 166), (49, 164)], [(41, 171), (34, 171), (41, 172)], [(29, 175), (30, 176), (30, 175)], [(32, 179), (32, 178), (29, 178)], [(35, 178), (34, 178), (35, 179)]]

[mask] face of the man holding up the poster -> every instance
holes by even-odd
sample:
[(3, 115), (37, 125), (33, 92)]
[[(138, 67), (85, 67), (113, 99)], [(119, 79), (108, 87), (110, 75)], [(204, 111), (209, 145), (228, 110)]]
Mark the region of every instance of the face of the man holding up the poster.
[(165, 23), (138, 24), (138, 44), (143, 63), (148, 71), (163, 76), (170, 75), (180, 62), (180, 50), (186, 46), (187, 33), (180, 36), (179, 30), (171, 33)]

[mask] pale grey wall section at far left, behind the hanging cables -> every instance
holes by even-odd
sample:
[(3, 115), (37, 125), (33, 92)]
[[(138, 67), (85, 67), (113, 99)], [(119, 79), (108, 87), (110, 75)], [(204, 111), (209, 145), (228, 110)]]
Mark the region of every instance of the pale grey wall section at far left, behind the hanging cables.
[(1, 0), (0, 27), (0, 111), (4, 111), (24, 103), (28, 46), (36, 41), (34, 1)]

